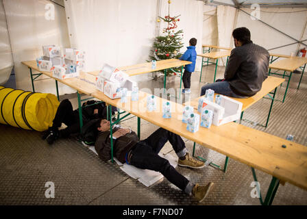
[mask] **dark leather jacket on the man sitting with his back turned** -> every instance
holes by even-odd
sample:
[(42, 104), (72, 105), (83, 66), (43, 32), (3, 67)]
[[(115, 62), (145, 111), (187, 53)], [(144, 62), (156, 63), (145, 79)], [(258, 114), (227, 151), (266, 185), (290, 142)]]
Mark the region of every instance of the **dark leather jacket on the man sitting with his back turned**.
[(267, 79), (268, 69), (268, 51), (251, 42), (232, 49), (224, 78), (235, 94), (254, 96)]

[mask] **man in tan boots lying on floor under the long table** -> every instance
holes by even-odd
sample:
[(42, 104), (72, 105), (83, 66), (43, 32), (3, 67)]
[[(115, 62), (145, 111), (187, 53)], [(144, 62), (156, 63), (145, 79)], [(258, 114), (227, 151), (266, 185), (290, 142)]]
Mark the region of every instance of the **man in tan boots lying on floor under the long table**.
[[(100, 159), (108, 161), (111, 159), (110, 122), (101, 119), (101, 121), (97, 122), (97, 129), (99, 133), (95, 142), (95, 149)], [(141, 169), (161, 172), (171, 183), (187, 194), (195, 196), (199, 202), (204, 201), (213, 189), (214, 183), (208, 183), (206, 186), (191, 183), (186, 177), (177, 172), (167, 159), (158, 155), (164, 144), (169, 141), (179, 157), (179, 166), (203, 168), (204, 162), (199, 162), (188, 154), (184, 141), (180, 136), (160, 128), (147, 139), (140, 141), (136, 133), (131, 129), (115, 127), (112, 130), (114, 139), (113, 154), (114, 157), (119, 159), (119, 162), (126, 162)]]

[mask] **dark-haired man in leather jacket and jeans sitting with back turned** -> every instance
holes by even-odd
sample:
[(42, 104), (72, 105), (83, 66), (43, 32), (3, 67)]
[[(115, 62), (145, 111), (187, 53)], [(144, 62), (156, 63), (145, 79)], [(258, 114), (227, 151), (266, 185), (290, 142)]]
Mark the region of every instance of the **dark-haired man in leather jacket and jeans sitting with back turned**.
[(239, 27), (232, 32), (234, 45), (224, 79), (219, 79), (201, 88), (201, 96), (211, 89), (218, 94), (235, 98), (254, 96), (267, 79), (269, 53), (266, 49), (254, 44), (246, 27)]

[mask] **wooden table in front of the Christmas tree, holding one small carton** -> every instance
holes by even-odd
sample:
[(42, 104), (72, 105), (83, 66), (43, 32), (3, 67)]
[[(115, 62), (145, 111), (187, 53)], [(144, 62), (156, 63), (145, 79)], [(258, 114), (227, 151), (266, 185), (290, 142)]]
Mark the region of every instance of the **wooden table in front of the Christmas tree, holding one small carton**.
[[(183, 67), (187, 64), (191, 64), (192, 62), (183, 61), (183, 60), (176, 60), (176, 59), (169, 59), (169, 60), (160, 60), (156, 62), (156, 68), (151, 68), (151, 62), (145, 62), (141, 64), (135, 64), (132, 66), (123, 66), (119, 67), (119, 70), (127, 73), (129, 76), (134, 75), (141, 75), (145, 73), (153, 73), (159, 70), (164, 70), (164, 88), (166, 88), (166, 81), (167, 81), (167, 69), (182, 67), (180, 73), (180, 90), (182, 86), (182, 73)], [(95, 70), (90, 72), (89, 74), (97, 76), (99, 74), (99, 70)]]

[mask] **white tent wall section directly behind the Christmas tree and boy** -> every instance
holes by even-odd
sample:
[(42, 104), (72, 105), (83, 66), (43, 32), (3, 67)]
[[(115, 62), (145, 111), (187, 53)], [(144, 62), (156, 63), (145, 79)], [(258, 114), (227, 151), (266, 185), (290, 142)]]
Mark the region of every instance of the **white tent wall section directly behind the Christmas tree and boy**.
[[(161, 5), (161, 16), (166, 16), (170, 13), (170, 16), (180, 15), (180, 21), (177, 22), (177, 29), (182, 29), (184, 31), (184, 36), (182, 42), (184, 47), (182, 47), (181, 52), (186, 51), (188, 47), (188, 41), (191, 38), (197, 39), (196, 52), (201, 54), (201, 40), (203, 34), (203, 13), (204, 13), (204, 3), (202, 1), (195, 0), (172, 0), (169, 12), (168, 0), (162, 0)], [(162, 22), (160, 25), (160, 34), (162, 34), (162, 29), (166, 27), (166, 23)], [(201, 70), (201, 58), (197, 56), (195, 71)]]

